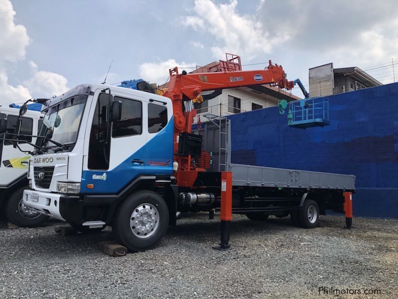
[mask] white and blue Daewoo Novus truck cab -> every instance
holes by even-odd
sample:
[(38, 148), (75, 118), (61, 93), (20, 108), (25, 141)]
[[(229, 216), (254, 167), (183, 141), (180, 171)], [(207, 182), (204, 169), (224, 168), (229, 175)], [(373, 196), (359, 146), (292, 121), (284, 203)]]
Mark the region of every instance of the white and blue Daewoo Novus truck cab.
[(24, 191), (24, 204), (83, 232), (112, 224), (117, 238), (129, 244), (125, 227), (113, 218), (126, 211), (119, 205), (124, 198), (145, 190), (127, 201), (136, 205), (128, 215), (131, 225), (126, 222), (136, 237), (129, 247), (147, 248), (152, 235), (156, 240), (150, 245), (156, 244), (169, 224), (168, 215), (159, 214), (176, 213), (175, 201), (168, 208), (158, 195), (173, 192), (164, 188), (173, 181), (171, 100), (122, 87), (79, 85), (49, 100), (43, 112), (39, 135), (46, 139), (38, 138), (30, 159), (32, 189)]

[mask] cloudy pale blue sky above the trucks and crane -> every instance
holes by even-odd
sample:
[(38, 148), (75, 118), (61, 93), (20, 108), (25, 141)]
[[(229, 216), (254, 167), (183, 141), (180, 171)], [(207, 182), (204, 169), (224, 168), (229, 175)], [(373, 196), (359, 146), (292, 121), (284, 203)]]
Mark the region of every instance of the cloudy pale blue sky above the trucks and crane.
[(112, 60), (109, 84), (161, 84), (169, 68), (189, 71), (225, 52), (240, 55), (245, 69), (263, 69), (272, 59), (304, 84), (308, 68), (329, 62), (391, 83), (395, 2), (0, 0), (0, 105), (101, 83)]

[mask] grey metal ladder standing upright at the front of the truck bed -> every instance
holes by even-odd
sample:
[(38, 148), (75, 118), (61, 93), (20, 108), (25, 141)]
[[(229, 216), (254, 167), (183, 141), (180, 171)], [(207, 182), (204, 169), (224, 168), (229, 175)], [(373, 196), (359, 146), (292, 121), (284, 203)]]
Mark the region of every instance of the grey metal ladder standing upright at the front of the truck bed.
[[(215, 126), (218, 127), (218, 171), (226, 171), (227, 170), (227, 161), (228, 161), (228, 151), (227, 145), (229, 144), (229, 119), (224, 116), (219, 116), (215, 114), (205, 114), (203, 115), (206, 119), (212, 122)], [(225, 131), (222, 131), (224, 128)], [(222, 138), (224, 136), (224, 138)]]

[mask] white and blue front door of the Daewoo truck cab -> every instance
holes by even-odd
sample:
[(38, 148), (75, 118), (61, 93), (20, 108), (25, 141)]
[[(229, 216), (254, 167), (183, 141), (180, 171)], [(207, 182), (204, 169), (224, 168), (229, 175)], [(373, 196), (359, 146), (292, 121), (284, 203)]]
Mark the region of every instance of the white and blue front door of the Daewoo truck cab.
[[(88, 169), (83, 171), (82, 191), (87, 193), (115, 194), (145, 174), (145, 100), (117, 94), (112, 98), (122, 102), (121, 119), (109, 122), (109, 96), (100, 93), (90, 132)], [(94, 184), (94, 188), (86, 188), (87, 184)]]

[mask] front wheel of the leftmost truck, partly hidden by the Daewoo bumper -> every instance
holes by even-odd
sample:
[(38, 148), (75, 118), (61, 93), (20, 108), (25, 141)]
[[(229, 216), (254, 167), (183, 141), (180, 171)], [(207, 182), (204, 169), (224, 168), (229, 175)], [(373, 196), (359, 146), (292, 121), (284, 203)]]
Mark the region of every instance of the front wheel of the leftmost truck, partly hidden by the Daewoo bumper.
[(5, 206), (5, 216), (8, 221), (19, 227), (36, 227), (49, 218), (23, 205), (23, 190), (28, 188), (24, 186), (12, 192)]

